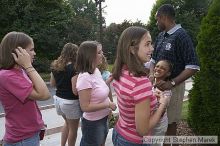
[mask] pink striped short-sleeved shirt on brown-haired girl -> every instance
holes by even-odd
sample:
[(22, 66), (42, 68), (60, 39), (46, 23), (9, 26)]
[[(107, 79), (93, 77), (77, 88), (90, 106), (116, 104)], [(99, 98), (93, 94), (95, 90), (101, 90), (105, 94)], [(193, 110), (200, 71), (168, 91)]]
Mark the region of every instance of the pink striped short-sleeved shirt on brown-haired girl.
[(114, 80), (113, 87), (119, 108), (117, 132), (130, 142), (143, 143), (143, 137), (136, 131), (135, 104), (150, 98), (151, 113), (154, 111), (157, 99), (153, 96), (151, 82), (145, 76), (134, 77), (128, 70), (123, 70), (120, 80)]

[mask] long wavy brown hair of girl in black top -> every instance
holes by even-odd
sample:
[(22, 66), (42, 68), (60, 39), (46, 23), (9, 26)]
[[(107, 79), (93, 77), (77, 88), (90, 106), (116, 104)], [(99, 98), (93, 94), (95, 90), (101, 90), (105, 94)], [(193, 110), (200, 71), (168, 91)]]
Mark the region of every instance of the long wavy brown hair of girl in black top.
[(55, 71), (63, 71), (69, 62), (74, 64), (76, 62), (77, 51), (77, 45), (72, 43), (65, 44), (58, 59), (51, 63), (51, 69)]

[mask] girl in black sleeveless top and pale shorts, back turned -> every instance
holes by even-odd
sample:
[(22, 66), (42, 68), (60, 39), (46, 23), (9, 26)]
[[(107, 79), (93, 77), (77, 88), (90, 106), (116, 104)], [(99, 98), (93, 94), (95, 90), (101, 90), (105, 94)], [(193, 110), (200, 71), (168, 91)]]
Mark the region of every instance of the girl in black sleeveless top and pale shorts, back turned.
[(74, 146), (77, 138), (77, 130), (79, 119), (81, 117), (81, 109), (79, 105), (78, 95), (72, 91), (72, 78), (77, 76), (74, 63), (78, 46), (72, 43), (64, 45), (61, 55), (51, 64), (51, 86), (56, 87), (56, 95), (54, 95), (55, 107), (57, 114), (61, 115), (65, 120), (65, 124), (61, 134), (61, 146)]

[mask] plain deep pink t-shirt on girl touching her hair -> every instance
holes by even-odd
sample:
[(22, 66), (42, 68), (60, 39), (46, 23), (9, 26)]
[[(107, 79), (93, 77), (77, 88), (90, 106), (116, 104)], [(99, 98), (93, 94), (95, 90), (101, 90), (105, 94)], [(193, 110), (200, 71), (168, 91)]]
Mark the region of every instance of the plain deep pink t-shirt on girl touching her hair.
[(0, 70), (0, 101), (5, 111), (7, 142), (33, 136), (44, 123), (34, 100), (27, 98), (33, 85), (22, 69)]

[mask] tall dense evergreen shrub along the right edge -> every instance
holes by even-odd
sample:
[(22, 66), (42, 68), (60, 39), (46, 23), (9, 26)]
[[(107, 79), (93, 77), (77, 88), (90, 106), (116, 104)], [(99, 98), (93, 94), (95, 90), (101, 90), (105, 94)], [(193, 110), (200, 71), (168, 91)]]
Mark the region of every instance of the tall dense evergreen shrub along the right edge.
[(220, 136), (220, 1), (214, 0), (203, 19), (197, 52), (201, 71), (189, 93), (188, 122), (198, 135)]

